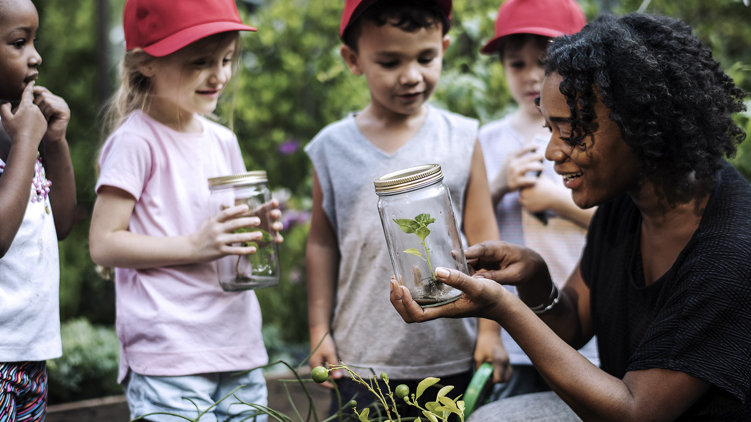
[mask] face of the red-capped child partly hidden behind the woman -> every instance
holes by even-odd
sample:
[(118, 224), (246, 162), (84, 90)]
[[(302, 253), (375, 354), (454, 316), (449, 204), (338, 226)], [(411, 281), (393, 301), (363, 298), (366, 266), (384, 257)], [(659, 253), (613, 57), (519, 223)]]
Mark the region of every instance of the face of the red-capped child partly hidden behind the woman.
[(503, 71), (508, 90), (520, 109), (535, 115), (539, 114), (535, 98), (540, 96), (545, 77), (544, 55), (544, 50), (541, 50), (533, 37), (527, 37), (517, 50), (511, 50), (508, 44), (503, 49)]

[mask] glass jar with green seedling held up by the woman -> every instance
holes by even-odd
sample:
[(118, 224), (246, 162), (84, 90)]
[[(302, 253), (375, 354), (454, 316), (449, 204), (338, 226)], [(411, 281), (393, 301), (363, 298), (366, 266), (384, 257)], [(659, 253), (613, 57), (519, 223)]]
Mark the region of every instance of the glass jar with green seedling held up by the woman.
[(409, 167), (373, 184), (397, 281), (424, 308), (457, 300), (462, 292), (435, 274), (436, 267), (469, 273), (441, 166)]

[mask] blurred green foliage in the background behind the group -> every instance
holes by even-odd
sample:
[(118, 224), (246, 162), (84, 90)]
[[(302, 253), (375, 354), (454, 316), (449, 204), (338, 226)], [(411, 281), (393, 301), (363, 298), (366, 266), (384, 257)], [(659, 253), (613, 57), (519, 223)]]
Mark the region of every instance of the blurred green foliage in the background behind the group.
[[(111, 344), (116, 347), (116, 340), (102, 335), (99, 327), (86, 326), (80, 318), (112, 330), (113, 284), (99, 278), (89, 257), (87, 236), (95, 200), (95, 161), (102, 139), (100, 98), (109, 95), (106, 83), (114, 83), (116, 61), (122, 54), (122, 35), (118, 34), (122, 34), (119, 26), (124, 0), (34, 2), (41, 17), (38, 50), (44, 59), (38, 83), (61, 95), (71, 107), (68, 140), (79, 203), (80, 221), (60, 244), (61, 317), (67, 321), (63, 333), (70, 356), (51, 366), (50, 378), (65, 385), (60, 387), (65, 394), (51, 390), (51, 399), (59, 401), (110, 391), (108, 387), (86, 387), (89, 381), (78, 375), (90, 373), (87, 367), (109, 374), (111, 367), (102, 362), (114, 359)], [(336, 35), (342, 1), (254, 3), (239, 3), (243, 19), (259, 31), (243, 35), (243, 69), (235, 77), (234, 95), (222, 104), (220, 114), (229, 116), (234, 106), (231, 123), (247, 167), (269, 172), (270, 185), (285, 204), (285, 216), (293, 217), (280, 247), (282, 282), (277, 288), (258, 291), (258, 297), (267, 345), (273, 351), (289, 351), (289, 345), (295, 344), (304, 350), (307, 311), (303, 262), (311, 168), (300, 147), (324, 125), (364, 107), (369, 95), (364, 80), (351, 75), (339, 57)], [(636, 11), (645, 3), (580, 0), (589, 19), (603, 11)], [(734, 80), (751, 91), (751, 8), (742, 0), (648, 3), (647, 12), (678, 17), (692, 26)], [(454, 2), (454, 26), (449, 32), (452, 43), (433, 98), (436, 104), (481, 122), (496, 119), (513, 107), (498, 60), (478, 54), (483, 41), (493, 33), (499, 4), (500, 0)], [(103, 23), (98, 20), (99, 11), (105, 17)], [(103, 26), (98, 32), (100, 24)], [(98, 46), (107, 47), (108, 53), (98, 51)], [(749, 117), (749, 113), (737, 116), (746, 131), (751, 131)], [(751, 177), (751, 141), (743, 143), (733, 162), (747, 178)], [(65, 384), (68, 381), (73, 384)]]

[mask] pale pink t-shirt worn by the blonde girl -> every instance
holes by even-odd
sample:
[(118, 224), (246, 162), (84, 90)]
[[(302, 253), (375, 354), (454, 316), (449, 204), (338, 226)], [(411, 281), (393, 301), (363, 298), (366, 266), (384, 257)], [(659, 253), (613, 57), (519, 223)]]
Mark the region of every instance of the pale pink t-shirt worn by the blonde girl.
[[(192, 234), (210, 217), (207, 179), (246, 171), (232, 131), (199, 119), (204, 131), (186, 134), (137, 111), (104, 143), (96, 189), (108, 185), (133, 195), (132, 233)], [(117, 268), (115, 280), (118, 381), (128, 368), (191, 375), (267, 363), (258, 299), (252, 291), (222, 291), (213, 262)]]

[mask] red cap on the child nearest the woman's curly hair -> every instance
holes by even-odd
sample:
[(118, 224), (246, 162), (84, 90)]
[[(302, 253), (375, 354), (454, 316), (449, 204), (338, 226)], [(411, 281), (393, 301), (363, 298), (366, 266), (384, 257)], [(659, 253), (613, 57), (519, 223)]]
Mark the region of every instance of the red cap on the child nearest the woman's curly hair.
[(508, 0), (498, 9), (496, 35), (480, 50), (495, 54), (501, 38), (511, 34), (546, 37), (571, 35), (587, 25), (587, 18), (575, 0)]

